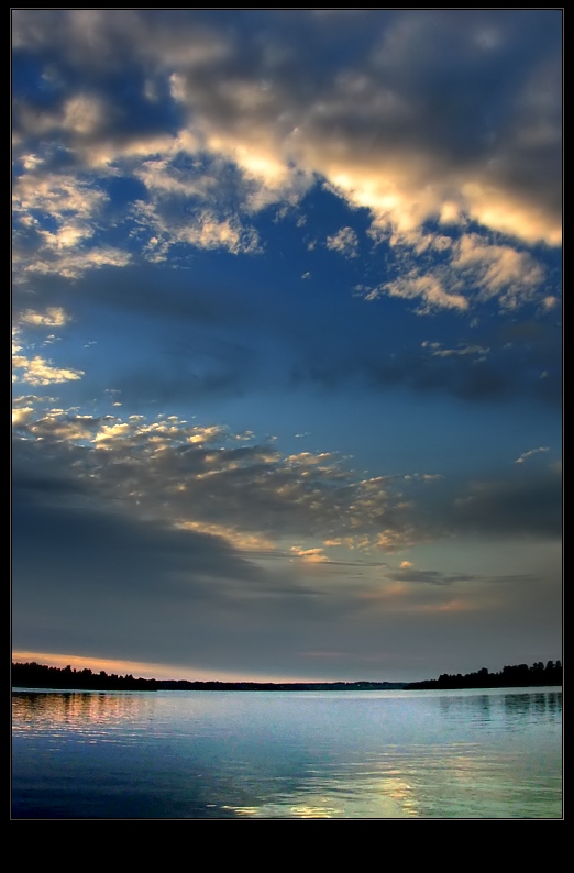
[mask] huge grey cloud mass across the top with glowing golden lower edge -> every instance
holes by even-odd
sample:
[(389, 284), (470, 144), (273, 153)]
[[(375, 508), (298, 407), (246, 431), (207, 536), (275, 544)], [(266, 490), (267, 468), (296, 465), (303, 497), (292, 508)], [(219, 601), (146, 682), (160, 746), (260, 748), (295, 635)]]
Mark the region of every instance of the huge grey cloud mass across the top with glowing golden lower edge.
[[(106, 165), (139, 178), (158, 226), (167, 221), (168, 202), (201, 198), (195, 230), (167, 225), (179, 242), (196, 246), (255, 251), (253, 239), (246, 250), (241, 242), (240, 214), (292, 206), (317, 180), (368, 210), (373, 228), (397, 240), (442, 218), (444, 226), (473, 221), (529, 245), (560, 244), (559, 10), (528, 10), (519, 19), (500, 10), (465, 16), (389, 10), (357, 16), (351, 33), (299, 11), (297, 41), (276, 11), (250, 16), (249, 27), (246, 18), (231, 16), (225, 30), (205, 10), (162, 12), (49, 10), (38, 18), (15, 11), (16, 54), (58, 57), (66, 82), (60, 91), (68, 89), (51, 109), (22, 103), (15, 125), (22, 155), (30, 155), (26, 140), (49, 133), (85, 168)], [(309, 51), (313, 45), (322, 51)], [(140, 71), (131, 107), (115, 96), (128, 63)], [(512, 76), (506, 75), (510, 66)], [(91, 91), (74, 90), (74, 75), (87, 71)], [(151, 130), (159, 106), (163, 114)], [(219, 178), (208, 169), (194, 181), (192, 172), (178, 170), (183, 156), (191, 158), (191, 170), (194, 161), (228, 169)], [(32, 197), (62, 212), (73, 191), (76, 199), (101, 200), (86, 181), (78, 191), (69, 174), (44, 178), (38, 158), (27, 159), (35, 169), (18, 184), (23, 209), (32, 208)], [(222, 208), (222, 194), (234, 201), (232, 212)], [(86, 219), (87, 209), (75, 207)], [(201, 218), (206, 210), (209, 220)], [(86, 223), (69, 226), (60, 228), (54, 245), (65, 245), (71, 233), (88, 237)], [(335, 251), (356, 247), (349, 235), (330, 239)], [(468, 241), (472, 256), (461, 244), (453, 263), (478, 275), (478, 297), (496, 294), (514, 307), (531, 294), (539, 274), (522, 252), (493, 246), (482, 231)], [(411, 275), (389, 283), (386, 292), (420, 297), (423, 307), (468, 305), (441, 275)]]

